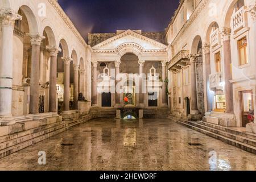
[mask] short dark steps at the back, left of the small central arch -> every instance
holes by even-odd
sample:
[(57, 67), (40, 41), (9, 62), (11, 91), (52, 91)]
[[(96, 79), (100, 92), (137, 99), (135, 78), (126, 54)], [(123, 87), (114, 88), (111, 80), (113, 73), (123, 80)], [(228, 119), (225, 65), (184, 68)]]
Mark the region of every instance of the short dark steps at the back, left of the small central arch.
[(91, 107), (89, 114), (92, 118), (116, 118), (117, 109), (114, 107)]

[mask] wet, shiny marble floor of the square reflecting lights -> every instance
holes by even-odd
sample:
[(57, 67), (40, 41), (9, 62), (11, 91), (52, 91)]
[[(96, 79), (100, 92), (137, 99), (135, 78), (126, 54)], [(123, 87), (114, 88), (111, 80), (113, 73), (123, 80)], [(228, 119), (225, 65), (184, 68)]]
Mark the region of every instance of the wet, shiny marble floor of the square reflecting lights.
[(94, 119), (0, 159), (0, 170), (255, 169), (256, 155), (168, 119)]

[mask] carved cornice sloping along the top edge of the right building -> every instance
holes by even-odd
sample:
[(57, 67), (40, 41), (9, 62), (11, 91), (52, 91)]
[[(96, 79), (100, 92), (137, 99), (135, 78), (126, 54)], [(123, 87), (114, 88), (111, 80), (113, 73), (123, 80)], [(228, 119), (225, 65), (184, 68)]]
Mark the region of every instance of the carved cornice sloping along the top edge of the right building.
[(197, 16), (201, 13), (201, 11), (204, 9), (205, 5), (207, 5), (209, 0), (201, 0), (199, 5), (196, 7), (196, 9), (193, 11), (192, 15), (190, 16), (189, 20), (184, 24), (184, 26), (181, 28), (179, 33), (176, 35), (175, 39), (172, 41), (172, 46), (179, 42), (179, 40), (182, 38), (182, 36), (185, 34), (185, 32), (188, 30), (188, 28), (191, 26), (191, 24), (195, 21)]

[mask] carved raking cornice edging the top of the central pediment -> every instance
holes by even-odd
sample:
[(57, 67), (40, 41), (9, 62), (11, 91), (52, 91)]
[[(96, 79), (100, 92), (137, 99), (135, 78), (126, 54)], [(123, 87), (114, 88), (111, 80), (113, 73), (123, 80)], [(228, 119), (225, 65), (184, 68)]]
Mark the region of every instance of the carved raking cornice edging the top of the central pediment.
[(138, 39), (141, 39), (141, 40), (144, 40), (150, 44), (153, 44), (154, 46), (159, 46), (161, 47), (162, 49), (166, 49), (167, 46), (162, 44), (162, 43), (159, 43), (157, 42), (156, 40), (152, 40), (150, 38), (147, 38), (146, 36), (143, 36), (141, 34), (138, 34), (137, 32), (134, 32), (134, 31), (131, 31), (131, 30), (126, 30), (125, 32), (122, 32), (121, 34), (118, 34), (116, 36), (114, 36), (113, 38), (110, 38), (108, 40), (105, 40), (104, 42), (101, 42), (100, 44), (96, 45), (93, 47), (93, 49), (98, 49), (98, 48), (101, 48), (101, 47), (104, 47), (106, 46), (107, 44), (110, 44), (112, 42), (114, 42), (115, 40), (118, 40), (118, 39), (121, 39), (123, 38), (124, 36), (127, 36), (127, 35), (131, 35), (131, 36), (134, 36), (135, 38), (138, 38)]

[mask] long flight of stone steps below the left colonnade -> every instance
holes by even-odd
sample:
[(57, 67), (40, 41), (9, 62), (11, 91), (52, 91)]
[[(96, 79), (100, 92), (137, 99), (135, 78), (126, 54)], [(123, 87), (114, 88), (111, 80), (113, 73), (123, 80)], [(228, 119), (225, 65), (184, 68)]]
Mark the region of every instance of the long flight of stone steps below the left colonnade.
[(84, 115), (67, 119), (56, 117), (1, 125), (0, 158), (67, 131), (89, 119), (91, 119), (90, 115)]

